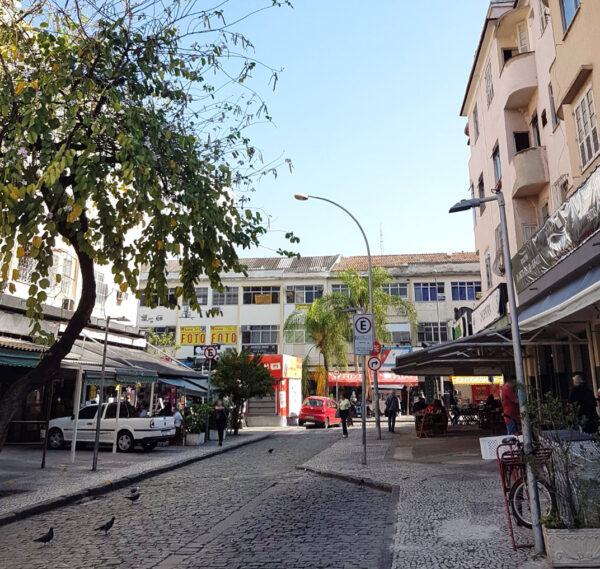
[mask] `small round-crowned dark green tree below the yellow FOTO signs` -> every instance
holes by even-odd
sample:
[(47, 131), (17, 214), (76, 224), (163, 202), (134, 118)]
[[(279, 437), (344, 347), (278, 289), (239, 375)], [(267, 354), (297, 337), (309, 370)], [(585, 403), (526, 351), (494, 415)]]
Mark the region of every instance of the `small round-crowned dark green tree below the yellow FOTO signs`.
[(231, 400), (231, 424), (235, 435), (244, 402), (251, 397), (266, 397), (273, 393), (273, 378), (268, 368), (260, 356), (253, 356), (250, 352), (234, 350), (220, 356), (211, 379), (221, 394)]

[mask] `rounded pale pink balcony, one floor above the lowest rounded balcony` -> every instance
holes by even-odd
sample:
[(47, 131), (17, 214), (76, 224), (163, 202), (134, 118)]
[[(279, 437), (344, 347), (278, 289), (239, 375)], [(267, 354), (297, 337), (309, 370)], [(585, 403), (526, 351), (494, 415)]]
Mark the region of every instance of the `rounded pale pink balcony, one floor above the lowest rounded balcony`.
[(526, 107), (538, 87), (535, 52), (520, 53), (509, 59), (500, 74), (500, 90), (505, 110)]

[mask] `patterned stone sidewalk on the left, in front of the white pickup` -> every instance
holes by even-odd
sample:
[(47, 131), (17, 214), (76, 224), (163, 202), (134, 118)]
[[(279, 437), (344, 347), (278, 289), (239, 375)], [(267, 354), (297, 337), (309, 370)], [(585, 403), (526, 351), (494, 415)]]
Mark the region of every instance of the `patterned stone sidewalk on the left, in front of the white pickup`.
[(151, 452), (115, 453), (101, 448), (92, 472), (91, 450), (48, 451), (40, 469), (40, 447), (6, 446), (0, 452), (0, 526), (78, 500), (133, 485), (173, 468), (268, 438), (271, 431), (244, 429), (222, 447), (209, 441), (197, 447), (159, 446)]

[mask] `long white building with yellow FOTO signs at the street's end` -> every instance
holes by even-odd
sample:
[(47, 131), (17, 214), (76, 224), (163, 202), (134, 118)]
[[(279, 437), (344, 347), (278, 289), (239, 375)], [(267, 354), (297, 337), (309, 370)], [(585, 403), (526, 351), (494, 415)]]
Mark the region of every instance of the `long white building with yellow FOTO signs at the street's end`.
[[(200, 315), (181, 303), (169, 309), (148, 308), (141, 302), (138, 326), (173, 332), (180, 345), (177, 358), (183, 361), (194, 357), (201, 361), (199, 346), (219, 344), (221, 350), (235, 348), (301, 358), (310, 354), (316, 363), (318, 354), (314, 350), (311, 354), (314, 346), (303, 330), (284, 333), (286, 319), (324, 294), (343, 292), (340, 271), (355, 269), (367, 274), (366, 257), (271, 257), (243, 259), (243, 264), (247, 276), (222, 275), (223, 292), (212, 290), (202, 280), (197, 284), (196, 295), (204, 312), (216, 308), (220, 315)], [(390, 315), (394, 345), (438, 342), (440, 336), (442, 341), (448, 340), (455, 309), (472, 310), (480, 295), (479, 265), (474, 253), (373, 256), (372, 265), (385, 268), (393, 277), (394, 282), (385, 287), (389, 294), (410, 300), (417, 308), (419, 324), (412, 330), (405, 318)], [(172, 264), (168, 268), (174, 294), (179, 285), (179, 267)], [(142, 287), (143, 279), (144, 274)]]

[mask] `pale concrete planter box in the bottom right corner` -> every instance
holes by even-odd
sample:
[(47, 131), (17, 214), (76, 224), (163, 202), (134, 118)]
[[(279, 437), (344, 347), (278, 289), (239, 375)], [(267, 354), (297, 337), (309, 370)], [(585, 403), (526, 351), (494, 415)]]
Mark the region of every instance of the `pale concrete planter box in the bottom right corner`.
[(600, 528), (543, 529), (552, 567), (600, 567)]

